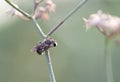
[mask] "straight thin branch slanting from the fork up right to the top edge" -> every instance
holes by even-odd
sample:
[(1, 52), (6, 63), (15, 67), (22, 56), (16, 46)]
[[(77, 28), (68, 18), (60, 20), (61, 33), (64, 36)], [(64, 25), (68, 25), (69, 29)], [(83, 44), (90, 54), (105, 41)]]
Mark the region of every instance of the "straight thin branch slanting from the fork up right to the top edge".
[(55, 27), (53, 27), (47, 34), (50, 36), (54, 31), (56, 31), (60, 26), (69, 18), (71, 17), (80, 7), (82, 7), (88, 0), (82, 0), (72, 11), (70, 11), (62, 21), (60, 21)]

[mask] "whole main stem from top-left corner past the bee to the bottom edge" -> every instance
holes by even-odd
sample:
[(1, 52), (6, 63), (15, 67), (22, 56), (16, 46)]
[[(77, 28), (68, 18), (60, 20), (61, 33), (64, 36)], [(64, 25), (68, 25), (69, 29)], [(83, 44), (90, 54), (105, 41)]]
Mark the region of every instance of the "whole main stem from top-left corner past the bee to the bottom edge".
[[(41, 27), (39, 26), (38, 22), (36, 21), (36, 19), (34, 19), (33, 17), (31, 17), (28, 13), (24, 12), (22, 9), (20, 9), (18, 6), (16, 6), (14, 3), (10, 2), (9, 0), (5, 0), (9, 5), (11, 5), (14, 9), (16, 9), (17, 11), (19, 11), (20, 13), (22, 13), (25, 17), (27, 17), (28, 19), (31, 19), (33, 21), (33, 23), (36, 25), (36, 27), (39, 30), (40, 35), (42, 36), (43, 39), (46, 38), (46, 35), (44, 34), (44, 32), (42, 31)], [(54, 72), (53, 72), (53, 68), (52, 68), (52, 63), (51, 63), (51, 58), (50, 58), (50, 53), (49, 51), (46, 51), (46, 61), (48, 64), (48, 71), (49, 71), (49, 77), (50, 77), (50, 82), (56, 82), (55, 81), (55, 76), (54, 76)]]

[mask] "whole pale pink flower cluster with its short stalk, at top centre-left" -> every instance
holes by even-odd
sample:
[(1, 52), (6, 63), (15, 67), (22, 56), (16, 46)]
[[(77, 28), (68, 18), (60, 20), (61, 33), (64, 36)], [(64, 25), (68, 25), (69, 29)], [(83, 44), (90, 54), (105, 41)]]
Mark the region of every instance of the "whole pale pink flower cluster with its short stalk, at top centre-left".
[(55, 3), (52, 2), (52, 0), (47, 0), (45, 3), (45, 7), (39, 7), (38, 5), (43, 0), (34, 0), (34, 15), (33, 18), (35, 19), (43, 19), (48, 20), (49, 19), (49, 13), (55, 12)]

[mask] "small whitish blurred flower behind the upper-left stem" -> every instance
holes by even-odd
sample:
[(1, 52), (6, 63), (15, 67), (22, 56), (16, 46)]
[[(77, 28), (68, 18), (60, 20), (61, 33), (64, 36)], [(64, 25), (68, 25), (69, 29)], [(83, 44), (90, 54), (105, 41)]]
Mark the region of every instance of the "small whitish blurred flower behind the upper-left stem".
[(17, 16), (18, 18), (23, 20), (27, 20), (27, 21), (30, 20), (27, 17), (25, 17), (22, 13), (15, 10), (14, 8), (10, 8), (9, 10), (7, 10), (7, 13), (10, 14), (11, 16)]

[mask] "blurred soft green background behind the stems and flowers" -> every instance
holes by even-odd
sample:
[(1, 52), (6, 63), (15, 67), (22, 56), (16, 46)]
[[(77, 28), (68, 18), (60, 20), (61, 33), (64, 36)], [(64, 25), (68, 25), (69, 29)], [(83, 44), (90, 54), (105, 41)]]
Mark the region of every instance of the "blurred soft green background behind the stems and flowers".
[[(28, 13), (33, 0), (12, 0)], [(0, 8), (0, 82), (49, 82), (45, 56), (31, 49), (41, 40), (32, 22), (6, 15), (10, 7), (2, 0)], [(47, 33), (80, 0), (54, 0), (56, 13), (49, 21), (39, 20)], [(83, 17), (101, 9), (120, 16), (119, 0), (89, 0), (51, 37), (58, 46), (50, 50), (57, 82), (106, 82), (104, 70), (104, 36), (95, 28), (85, 32)], [(112, 64), (115, 82), (120, 82), (120, 45), (112, 42)]]

